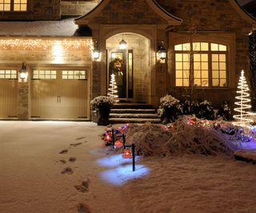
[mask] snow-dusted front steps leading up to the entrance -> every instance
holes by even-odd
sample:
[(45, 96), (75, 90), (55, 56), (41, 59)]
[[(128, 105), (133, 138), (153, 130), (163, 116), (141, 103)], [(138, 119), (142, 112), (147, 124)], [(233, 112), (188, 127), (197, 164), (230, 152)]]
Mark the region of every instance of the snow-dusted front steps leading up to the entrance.
[(111, 124), (160, 123), (160, 119), (151, 105), (140, 103), (118, 103), (110, 112)]

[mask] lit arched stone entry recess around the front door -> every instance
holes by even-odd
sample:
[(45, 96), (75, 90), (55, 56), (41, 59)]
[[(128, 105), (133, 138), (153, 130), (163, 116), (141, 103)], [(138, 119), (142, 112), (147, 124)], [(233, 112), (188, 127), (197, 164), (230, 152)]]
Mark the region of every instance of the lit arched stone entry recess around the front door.
[[(119, 42), (125, 40), (126, 49)], [(150, 103), (150, 39), (140, 34), (115, 34), (106, 39), (107, 88), (114, 73), (120, 101)]]

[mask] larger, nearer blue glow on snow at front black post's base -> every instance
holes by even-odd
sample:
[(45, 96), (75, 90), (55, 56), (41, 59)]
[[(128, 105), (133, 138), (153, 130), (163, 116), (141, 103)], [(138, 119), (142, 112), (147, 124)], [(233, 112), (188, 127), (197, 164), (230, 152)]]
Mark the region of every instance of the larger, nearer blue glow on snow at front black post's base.
[(149, 172), (150, 169), (142, 164), (135, 165), (135, 171), (133, 172), (132, 164), (129, 164), (102, 172), (100, 177), (107, 183), (120, 186), (130, 179), (146, 176)]

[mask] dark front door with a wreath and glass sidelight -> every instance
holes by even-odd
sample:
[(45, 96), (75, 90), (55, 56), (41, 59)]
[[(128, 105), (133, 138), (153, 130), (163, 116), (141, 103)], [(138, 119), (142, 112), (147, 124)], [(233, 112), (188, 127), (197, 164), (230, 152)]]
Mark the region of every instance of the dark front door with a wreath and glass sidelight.
[(114, 80), (118, 87), (117, 95), (121, 100), (134, 97), (133, 69), (134, 66), (132, 49), (119, 49), (110, 51), (108, 85), (110, 85), (111, 74), (114, 74)]

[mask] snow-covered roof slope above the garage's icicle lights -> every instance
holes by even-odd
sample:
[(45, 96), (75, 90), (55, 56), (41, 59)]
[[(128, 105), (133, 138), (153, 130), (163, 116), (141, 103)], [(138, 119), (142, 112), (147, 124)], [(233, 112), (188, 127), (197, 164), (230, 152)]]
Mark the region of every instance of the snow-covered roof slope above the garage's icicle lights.
[(0, 36), (70, 37), (78, 26), (74, 18), (61, 21), (0, 22)]

